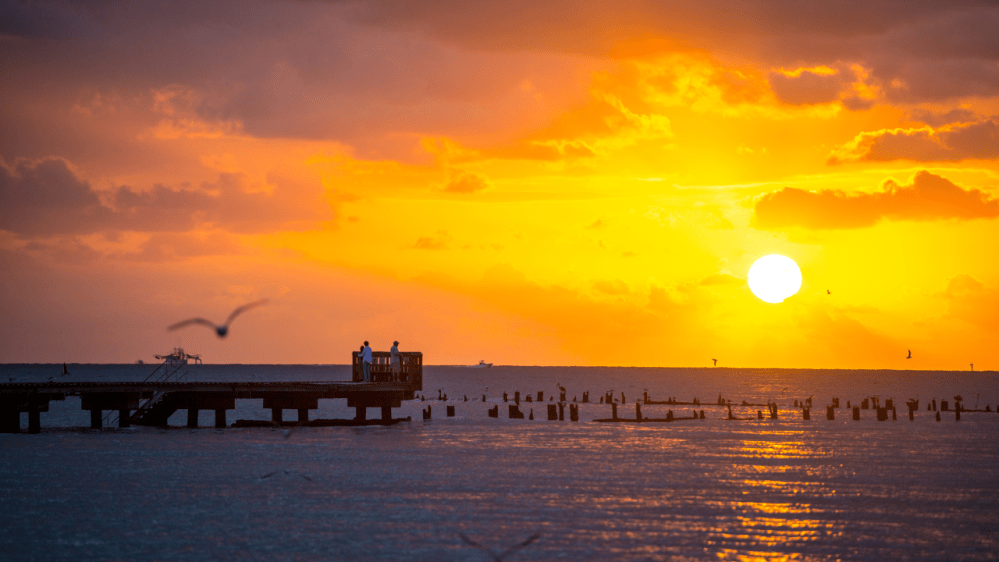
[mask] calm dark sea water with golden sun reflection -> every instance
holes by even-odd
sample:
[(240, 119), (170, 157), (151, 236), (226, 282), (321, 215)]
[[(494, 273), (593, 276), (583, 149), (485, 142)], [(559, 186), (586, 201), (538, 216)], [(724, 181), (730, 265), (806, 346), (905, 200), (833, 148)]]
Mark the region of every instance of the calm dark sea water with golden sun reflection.
[[(142, 380), (151, 366), (3, 365), (8, 380)], [(203, 365), (189, 380), (343, 380), (346, 366)], [(425, 368), (428, 400), (390, 427), (86, 429), (79, 399), (52, 402), (38, 435), (0, 435), (0, 559), (488, 561), (995, 560), (999, 375), (994, 372)], [(705, 420), (602, 424), (507, 419), (502, 393), (567, 388), (596, 401), (698, 397)], [(448, 395), (456, 417), (445, 417)], [(775, 401), (778, 420), (708, 405)], [(487, 404), (481, 402), (486, 394)], [(926, 403), (964, 398), (960, 421)], [(468, 402), (464, 401), (468, 397)], [(812, 420), (791, 406), (813, 397)], [(920, 399), (915, 421), (853, 421), (866, 396)], [(430, 398), (433, 400), (430, 400)], [(500, 418), (486, 410), (500, 405)], [(423, 421), (430, 406), (433, 418)], [(644, 406), (664, 417), (666, 406)], [(740, 417), (758, 408), (735, 408)], [(689, 415), (689, 407), (674, 407)], [(286, 412), (285, 419), (294, 419)], [(320, 401), (312, 417), (352, 417)], [(370, 417), (378, 414), (372, 410)], [(566, 411), (568, 417), (568, 411)], [(270, 419), (238, 401), (237, 419)], [(201, 424), (213, 424), (211, 412)], [(26, 415), (22, 425), (27, 427)], [(266, 477), (265, 477), (266, 476)]]

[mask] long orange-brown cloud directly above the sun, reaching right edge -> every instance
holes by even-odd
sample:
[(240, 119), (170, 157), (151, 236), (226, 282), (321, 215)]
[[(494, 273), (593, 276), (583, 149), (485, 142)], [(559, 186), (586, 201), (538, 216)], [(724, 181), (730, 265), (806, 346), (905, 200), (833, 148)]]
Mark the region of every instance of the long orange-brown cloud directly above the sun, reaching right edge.
[(946, 178), (920, 171), (910, 185), (886, 181), (880, 193), (805, 191), (786, 187), (761, 197), (754, 207), (755, 228), (861, 228), (881, 219), (937, 220), (994, 218), (999, 199), (963, 189)]

